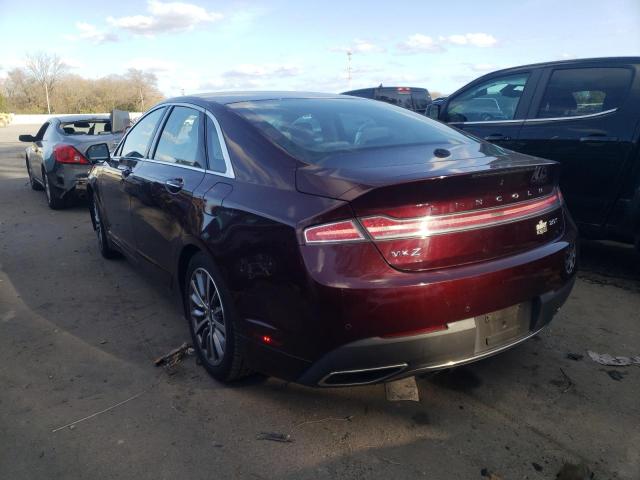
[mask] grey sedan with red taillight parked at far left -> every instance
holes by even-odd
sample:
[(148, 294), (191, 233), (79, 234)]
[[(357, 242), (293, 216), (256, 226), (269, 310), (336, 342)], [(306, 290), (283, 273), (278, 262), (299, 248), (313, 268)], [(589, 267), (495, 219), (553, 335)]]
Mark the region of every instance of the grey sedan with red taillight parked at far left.
[(68, 115), (52, 117), (35, 136), (20, 135), (31, 144), (25, 152), (31, 188), (45, 191), (49, 207), (62, 208), (70, 195), (84, 194), (91, 168), (85, 152), (96, 143), (115, 147), (122, 132), (111, 130), (108, 115)]

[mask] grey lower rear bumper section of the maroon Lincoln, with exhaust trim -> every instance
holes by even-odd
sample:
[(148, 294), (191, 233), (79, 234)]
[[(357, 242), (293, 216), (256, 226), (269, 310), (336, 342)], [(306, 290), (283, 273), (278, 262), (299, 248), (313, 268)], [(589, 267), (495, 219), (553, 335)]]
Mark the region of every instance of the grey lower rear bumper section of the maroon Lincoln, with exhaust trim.
[(575, 277), (531, 302), (526, 332), (489, 349), (478, 348), (478, 321), (451, 322), (447, 330), (399, 338), (367, 338), (343, 345), (314, 362), (297, 382), (312, 386), (364, 385), (475, 362), (512, 348), (540, 332), (571, 293)]

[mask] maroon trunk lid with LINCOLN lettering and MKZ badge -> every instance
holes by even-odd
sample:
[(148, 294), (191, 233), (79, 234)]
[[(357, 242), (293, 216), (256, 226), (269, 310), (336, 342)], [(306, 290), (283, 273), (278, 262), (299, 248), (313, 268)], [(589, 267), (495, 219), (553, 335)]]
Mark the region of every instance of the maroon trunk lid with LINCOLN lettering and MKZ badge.
[(299, 186), (348, 200), (365, 238), (405, 271), (513, 255), (559, 236), (558, 165), (489, 151), (499, 155), (466, 146), (455, 157), (414, 163), (416, 152), (404, 149), (393, 165), (377, 168), (319, 174), (304, 167)]

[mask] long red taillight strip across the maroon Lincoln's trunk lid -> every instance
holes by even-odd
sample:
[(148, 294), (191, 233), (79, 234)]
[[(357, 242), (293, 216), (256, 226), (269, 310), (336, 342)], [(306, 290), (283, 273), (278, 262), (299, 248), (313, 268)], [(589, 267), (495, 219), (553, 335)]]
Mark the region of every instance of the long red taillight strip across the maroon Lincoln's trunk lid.
[(555, 210), (560, 207), (560, 203), (560, 196), (555, 191), (543, 198), (502, 207), (410, 219), (378, 215), (361, 218), (360, 223), (374, 240), (429, 237), (524, 220)]

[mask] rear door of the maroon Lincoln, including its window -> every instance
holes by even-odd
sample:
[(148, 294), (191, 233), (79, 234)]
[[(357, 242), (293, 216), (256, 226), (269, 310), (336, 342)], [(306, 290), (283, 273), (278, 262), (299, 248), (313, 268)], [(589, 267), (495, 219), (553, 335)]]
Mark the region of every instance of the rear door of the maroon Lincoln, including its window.
[(204, 113), (197, 107), (171, 108), (140, 176), (132, 200), (138, 254), (161, 283), (171, 281), (174, 252), (193, 214), (193, 192), (205, 175)]

